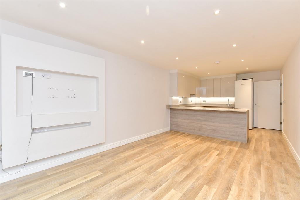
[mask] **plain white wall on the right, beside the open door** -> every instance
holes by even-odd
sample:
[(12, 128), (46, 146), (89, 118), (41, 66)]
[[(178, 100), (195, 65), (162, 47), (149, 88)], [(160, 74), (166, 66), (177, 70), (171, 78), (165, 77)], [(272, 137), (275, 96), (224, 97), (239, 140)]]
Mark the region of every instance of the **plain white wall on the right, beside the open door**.
[[(300, 39), (283, 68), (283, 134), (300, 159)], [(296, 159), (297, 160), (297, 159)], [(298, 160), (298, 164), (300, 160)]]

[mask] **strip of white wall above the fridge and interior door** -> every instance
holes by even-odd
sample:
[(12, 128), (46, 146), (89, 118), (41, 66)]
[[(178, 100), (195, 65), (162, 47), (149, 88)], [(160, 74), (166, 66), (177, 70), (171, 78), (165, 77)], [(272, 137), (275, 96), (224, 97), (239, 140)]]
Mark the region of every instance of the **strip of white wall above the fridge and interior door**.
[(244, 73), (244, 74), (237, 74), (236, 76), (237, 76), (237, 80), (242, 80), (242, 79), (253, 79), (253, 81), (279, 80), (280, 70), (268, 71), (268, 72), (257, 72), (257, 73)]

